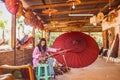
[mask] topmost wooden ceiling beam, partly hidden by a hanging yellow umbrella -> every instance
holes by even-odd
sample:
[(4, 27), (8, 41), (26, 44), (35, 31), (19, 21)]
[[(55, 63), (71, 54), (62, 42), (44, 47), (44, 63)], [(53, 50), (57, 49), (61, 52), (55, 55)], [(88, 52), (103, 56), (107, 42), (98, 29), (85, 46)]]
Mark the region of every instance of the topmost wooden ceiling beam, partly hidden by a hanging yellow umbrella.
[[(109, 0), (98, 0), (98, 1), (86, 1), (86, 2), (81, 2), (80, 5), (87, 5), (87, 4), (98, 4), (98, 3), (105, 3), (108, 2)], [(71, 4), (68, 3), (62, 3), (62, 4), (49, 4), (49, 5), (34, 5), (30, 6), (27, 9), (30, 10), (35, 10), (35, 9), (44, 9), (44, 8), (49, 8), (49, 7), (62, 7), (62, 6), (71, 6)]]

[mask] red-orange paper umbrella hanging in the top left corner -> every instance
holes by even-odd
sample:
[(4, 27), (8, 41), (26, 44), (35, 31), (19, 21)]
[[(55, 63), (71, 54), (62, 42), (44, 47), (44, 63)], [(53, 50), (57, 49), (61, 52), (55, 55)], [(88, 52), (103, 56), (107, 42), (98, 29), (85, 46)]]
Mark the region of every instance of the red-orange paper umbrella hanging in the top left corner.
[(16, 14), (19, 7), (19, 0), (5, 0), (5, 5), (8, 11), (12, 14)]

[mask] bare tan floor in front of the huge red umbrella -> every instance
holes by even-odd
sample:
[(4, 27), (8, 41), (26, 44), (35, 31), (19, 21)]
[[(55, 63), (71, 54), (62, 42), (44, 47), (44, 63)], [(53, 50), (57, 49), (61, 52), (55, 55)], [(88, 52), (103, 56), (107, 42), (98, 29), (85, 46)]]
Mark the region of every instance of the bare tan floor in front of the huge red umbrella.
[(120, 80), (120, 63), (106, 63), (105, 59), (98, 58), (92, 65), (72, 68), (56, 80)]

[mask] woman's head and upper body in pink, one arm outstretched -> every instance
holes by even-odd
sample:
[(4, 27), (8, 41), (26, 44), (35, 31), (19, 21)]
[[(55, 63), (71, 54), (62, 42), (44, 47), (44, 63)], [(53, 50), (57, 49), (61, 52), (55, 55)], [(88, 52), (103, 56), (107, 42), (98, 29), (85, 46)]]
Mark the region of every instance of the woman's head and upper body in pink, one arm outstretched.
[(42, 55), (44, 56), (44, 58), (47, 58), (47, 52), (57, 52), (57, 50), (60, 49), (56, 49), (56, 48), (48, 48), (46, 45), (46, 39), (42, 38), (39, 41), (39, 44), (35, 47), (34, 51), (33, 51), (33, 67), (35, 68), (36, 65), (39, 63), (39, 57)]

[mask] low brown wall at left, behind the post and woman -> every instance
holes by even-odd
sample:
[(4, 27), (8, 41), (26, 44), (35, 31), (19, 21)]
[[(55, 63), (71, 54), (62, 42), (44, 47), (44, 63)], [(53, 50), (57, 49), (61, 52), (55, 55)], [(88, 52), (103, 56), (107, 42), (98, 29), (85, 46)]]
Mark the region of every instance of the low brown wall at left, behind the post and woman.
[[(32, 49), (16, 51), (16, 65), (32, 64)], [(14, 65), (14, 52), (0, 52), (0, 65)]]

